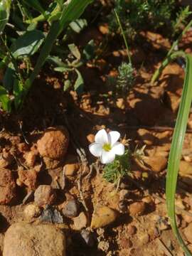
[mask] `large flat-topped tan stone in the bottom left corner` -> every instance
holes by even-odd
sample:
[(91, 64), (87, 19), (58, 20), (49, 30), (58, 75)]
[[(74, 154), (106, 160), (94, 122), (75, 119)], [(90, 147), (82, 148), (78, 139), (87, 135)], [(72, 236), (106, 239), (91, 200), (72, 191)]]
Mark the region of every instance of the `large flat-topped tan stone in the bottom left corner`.
[(15, 223), (6, 231), (4, 256), (65, 256), (65, 235), (53, 225)]

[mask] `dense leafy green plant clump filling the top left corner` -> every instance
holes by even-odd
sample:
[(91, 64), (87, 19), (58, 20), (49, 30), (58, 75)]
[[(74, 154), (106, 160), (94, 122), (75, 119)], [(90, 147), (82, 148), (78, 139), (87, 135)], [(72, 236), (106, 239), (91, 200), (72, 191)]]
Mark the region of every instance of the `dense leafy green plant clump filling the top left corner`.
[[(55, 51), (65, 53), (60, 48), (65, 34), (59, 38), (60, 34), (68, 27), (79, 33), (86, 23), (79, 17), (91, 2), (60, 0), (45, 4), (38, 0), (0, 0), (0, 69), (4, 70), (0, 102), (4, 110), (18, 110), (48, 58)], [(42, 29), (45, 21), (48, 31)], [(38, 58), (34, 58), (36, 53)], [(20, 68), (21, 64), (26, 68)], [(76, 73), (78, 87), (81, 76), (78, 70)]]

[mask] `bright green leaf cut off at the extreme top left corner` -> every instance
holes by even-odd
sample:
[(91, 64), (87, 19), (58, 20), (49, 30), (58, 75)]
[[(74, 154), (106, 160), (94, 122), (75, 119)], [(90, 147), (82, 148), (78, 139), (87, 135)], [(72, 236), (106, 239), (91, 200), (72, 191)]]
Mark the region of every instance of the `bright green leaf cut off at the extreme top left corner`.
[(11, 0), (0, 0), (0, 33), (4, 31), (4, 27), (9, 20), (10, 7)]

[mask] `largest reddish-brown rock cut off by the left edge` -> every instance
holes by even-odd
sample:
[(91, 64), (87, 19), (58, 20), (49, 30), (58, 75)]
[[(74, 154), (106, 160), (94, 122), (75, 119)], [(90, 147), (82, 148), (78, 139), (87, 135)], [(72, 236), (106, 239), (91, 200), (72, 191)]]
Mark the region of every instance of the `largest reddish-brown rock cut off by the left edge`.
[(0, 205), (9, 205), (16, 198), (16, 183), (12, 172), (0, 170)]

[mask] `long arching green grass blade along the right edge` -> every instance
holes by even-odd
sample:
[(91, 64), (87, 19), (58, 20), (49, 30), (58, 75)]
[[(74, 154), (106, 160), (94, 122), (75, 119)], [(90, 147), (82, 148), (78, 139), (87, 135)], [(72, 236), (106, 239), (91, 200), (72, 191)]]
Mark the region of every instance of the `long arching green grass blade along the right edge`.
[(186, 55), (186, 75), (183, 85), (183, 92), (181, 96), (181, 103), (178, 110), (178, 116), (176, 119), (176, 126), (174, 129), (174, 135), (171, 143), (171, 150), (169, 154), (169, 164), (166, 176), (166, 205), (168, 215), (171, 221), (171, 228), (174, 231), (174, 235), (178, 239), (181, 247), (187, 256), (191, 256), (191, 252), (186, 247), (181, 234), (178, 231), (176, 225), (176, 213), (175, 213), (175, 193), (176, 182), (178, 176), (179, 163), (181, 159), (181, 151), (183, 146), (183, 140), (186, 133), (186, 126), (188, 122), (188, 114), (191, 108), (192, 100), (192, 56)]

